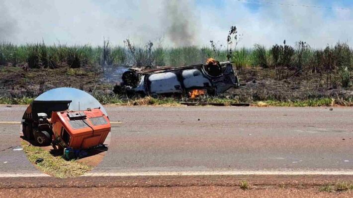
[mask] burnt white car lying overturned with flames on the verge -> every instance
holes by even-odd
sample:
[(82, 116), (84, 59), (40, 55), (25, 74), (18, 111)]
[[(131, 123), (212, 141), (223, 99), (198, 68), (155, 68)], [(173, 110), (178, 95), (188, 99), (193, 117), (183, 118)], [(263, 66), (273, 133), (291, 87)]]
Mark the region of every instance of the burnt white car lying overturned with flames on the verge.
[(121, 86), (129, 93), (143, 95), (199, 94), (218, 95), (239, 86), (231, 62), (209, 58), (206, 64), (157, 69), (131, 68), (122, 74)]

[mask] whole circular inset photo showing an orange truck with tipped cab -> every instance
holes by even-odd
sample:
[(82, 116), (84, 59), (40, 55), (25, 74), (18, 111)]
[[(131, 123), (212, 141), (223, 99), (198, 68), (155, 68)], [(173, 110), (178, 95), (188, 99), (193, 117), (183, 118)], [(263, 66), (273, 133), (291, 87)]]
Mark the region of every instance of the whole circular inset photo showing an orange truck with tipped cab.
[(110, 142), (104, 107), (88, 93), (57, 88), (33, 100), (23, 114), (21, 146), (44, 173), (81, 176), (103, 159)]

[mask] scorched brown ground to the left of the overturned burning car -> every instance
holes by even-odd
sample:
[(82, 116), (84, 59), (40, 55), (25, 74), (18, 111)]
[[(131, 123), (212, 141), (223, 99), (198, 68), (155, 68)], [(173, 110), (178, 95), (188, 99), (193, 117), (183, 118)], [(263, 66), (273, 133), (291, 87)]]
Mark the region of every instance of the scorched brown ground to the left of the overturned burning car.
[(73, 87), (92, 93), (95, 89), (108, 94), (112, 86), (101, 81), (100, 72), (85, 66), (81, 68), (22, 69), (0, 67), (0, 97), (36, 98), (40, 94), (59, 87)]

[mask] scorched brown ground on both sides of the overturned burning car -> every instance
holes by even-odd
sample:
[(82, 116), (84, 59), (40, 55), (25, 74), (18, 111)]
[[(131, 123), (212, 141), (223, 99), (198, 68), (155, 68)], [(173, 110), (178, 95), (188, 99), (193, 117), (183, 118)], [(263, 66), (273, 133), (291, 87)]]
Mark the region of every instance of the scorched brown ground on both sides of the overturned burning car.
[[(104, 100), (104, 96), (120, 98), (113, 93), (115, 82), (104, 80), (103, 72), (96, 68), (99, 67), (84, 66), (74, 69), (62, 66), (56, 69), (29, 69), (2, 66), (0, 67), (0, 98), (34, 99), (45, 91), (59, 87), (73, 87), (93, 96), (99, 95), (98, 100), (104, 104), (111, 103)], [(353, 105), (353, 87), (342, 88), (339, 83), (335, 86), (327, 86), (324, 75), (312, 73), (275, 80), (273, 69), (260, 67), (256, 68), (256, 71), (254, 68), (242, 68), (237, 73), (243, 86), (230, 89), (216, 99), (237, 102), (334, 99), (336, 104)], [(134, 96), (129, 97), (134, 98)]]

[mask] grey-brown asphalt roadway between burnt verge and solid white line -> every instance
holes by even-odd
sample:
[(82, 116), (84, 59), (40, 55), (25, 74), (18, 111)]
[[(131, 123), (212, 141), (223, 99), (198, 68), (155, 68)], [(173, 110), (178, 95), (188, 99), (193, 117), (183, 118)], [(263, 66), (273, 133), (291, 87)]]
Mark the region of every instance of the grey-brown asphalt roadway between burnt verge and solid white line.
[[(20, 145), (25, 106), (0, 106), (0, 175), (38, 174)], [(92, 175), (353, 174), (353, 108), (106, 107), (111, 143)]]

